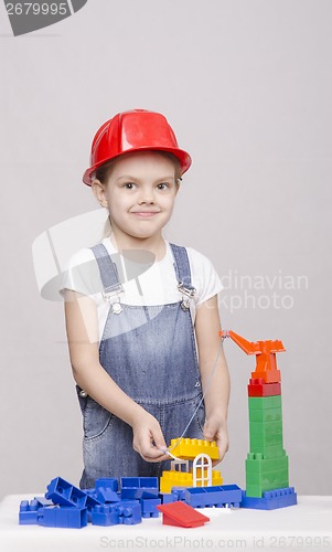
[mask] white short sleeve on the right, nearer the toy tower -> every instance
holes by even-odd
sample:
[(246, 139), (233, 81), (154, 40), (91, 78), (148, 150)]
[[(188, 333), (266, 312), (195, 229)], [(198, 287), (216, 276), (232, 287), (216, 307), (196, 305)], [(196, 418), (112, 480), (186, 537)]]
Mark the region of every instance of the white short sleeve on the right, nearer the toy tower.
[(195, 304), (199, 306), (217, 295), (223, 285), (211, 261), (202, 253), (188, 247), (192, 272), (192, 284), (196, 288)]

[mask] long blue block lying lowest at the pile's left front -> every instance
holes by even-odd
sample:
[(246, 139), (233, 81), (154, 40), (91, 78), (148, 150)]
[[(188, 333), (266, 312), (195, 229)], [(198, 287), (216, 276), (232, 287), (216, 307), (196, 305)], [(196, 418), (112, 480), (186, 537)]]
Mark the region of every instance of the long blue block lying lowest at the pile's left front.
[(87, 509), (72, 506), (46, 506), (39, 509), (38, 523), (44, 527), (81, 529), (87, 526)]

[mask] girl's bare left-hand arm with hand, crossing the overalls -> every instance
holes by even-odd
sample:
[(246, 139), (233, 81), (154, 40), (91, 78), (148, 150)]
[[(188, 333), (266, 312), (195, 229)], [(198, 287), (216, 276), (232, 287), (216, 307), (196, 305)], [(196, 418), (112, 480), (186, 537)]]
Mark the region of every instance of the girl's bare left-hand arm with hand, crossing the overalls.
[[(132, 427), (133, 449), (147, 461), (169, 457), (158, 421), (128, 396), (99, 363), (97, 308), (85, 295), (65, 290), (69, 357), (76, 383), (98, 404)], [(156, 444), (156, 446), (153, 445)]]

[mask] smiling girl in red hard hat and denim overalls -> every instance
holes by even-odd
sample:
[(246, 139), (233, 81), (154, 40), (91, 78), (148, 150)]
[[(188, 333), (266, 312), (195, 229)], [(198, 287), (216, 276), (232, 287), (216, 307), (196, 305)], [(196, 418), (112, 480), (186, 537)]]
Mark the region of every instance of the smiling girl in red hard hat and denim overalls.
[(160, 476), (167, 445), (185, 428), (215, 439), (221, 459), (227, 450), (221, 282), (206, 257), (162, 236), (190, 164), (158, 113), (118, 114), (94, 138), (83, 180), (108, 209), (110, 235), (74, 255), (63, 283), (84, 416), (82, 488)]

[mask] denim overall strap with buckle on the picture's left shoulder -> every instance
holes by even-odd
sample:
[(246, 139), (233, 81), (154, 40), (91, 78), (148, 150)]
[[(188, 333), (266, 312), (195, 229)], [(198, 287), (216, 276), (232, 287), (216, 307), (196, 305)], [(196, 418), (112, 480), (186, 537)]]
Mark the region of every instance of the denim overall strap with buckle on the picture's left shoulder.
[(104, 290), (103, 297), (106, 301), (111, 302), (113, 311), (121, 312), (119, 294), (124, 293), (120, 284), (117, 265), (111, 261), (109, 253), (105, 245), (97, 244), (90, 247), (98, 263), (100, 278)]

